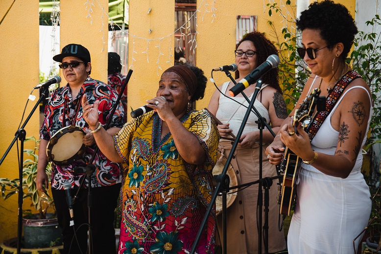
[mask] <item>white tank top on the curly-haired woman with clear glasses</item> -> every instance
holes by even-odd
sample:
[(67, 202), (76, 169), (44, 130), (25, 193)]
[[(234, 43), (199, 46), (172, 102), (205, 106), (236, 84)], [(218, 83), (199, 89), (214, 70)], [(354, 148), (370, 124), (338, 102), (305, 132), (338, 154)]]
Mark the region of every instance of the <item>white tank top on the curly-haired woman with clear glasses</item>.
[[(223, 83), (221, 92), (225, 94), (226, 89), (228, 88), (229, 81)], [(267, 84), (263, 84), (261, 87), (261, 90), (268, 86)], [(242, 103), (246, 107), (249, 106), (249, 103), (246, 101), (244, 97), (230, 97), (226, 98), (223, 94), (220, 94), (219, 96), (219, 105), (217, 113), (215, 114), (215, 117), (217, 117), (218, 120), (220, 120), (222, 123), (229, 123), (230, 129), (233, 130), (233, 134), (237, 135), (239, 127), (241, 126), (242, 119), (244, 118), (246, 114), (247, 108), (241, 106), (237, 102), (229, 99), (233, 98), (234, 100), (238, 101), (239, 103)], [(254, 92), (248, 96), (249, 99), (252, 98)], [(259, 92), (258, 92), (259, 94)], [(257, 109), (257, 111), (266, 119), (267, 124), (270, 123), (270, 116), (268, 114), (268, 110), (263, 106), (263, 104), (256, 99), (254, 102), (254, 107)], [(250, 113), (249, 119), (246, 122), (245, 128), (243, 129), (243, 133), (253, 132), (258, 130), (258, 123), (255, 121), (258, 120), (257, 115), (255, 115), (253, 112)], [(266, 129), (266, 128), (265, 128)]]

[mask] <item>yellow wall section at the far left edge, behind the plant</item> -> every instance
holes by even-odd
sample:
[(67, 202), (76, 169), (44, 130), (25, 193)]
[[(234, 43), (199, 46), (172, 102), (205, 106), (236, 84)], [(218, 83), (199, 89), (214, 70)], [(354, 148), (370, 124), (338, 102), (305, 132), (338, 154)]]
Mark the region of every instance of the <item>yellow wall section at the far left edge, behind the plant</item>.
[[(0, 20), (12, 2), (0, 1)], [(38, 25), (38, 1), (30, 0), (16, 0), (0, 24), (0, 156), (15, 138), (28, 95), (39, 82)], [(38, 97), (38, 91), (33, 95)], [(24, 120), (36, 101), (29, 101)], [(38, 135), (38, 112), (24, 129), (26, 136)], [(15, 143), (1, 164), (0, 178), (18, 178), (16, 147)], [(17, 195), (6, 201), (0, 197), (0, 242), (17, 236), (17, 208)], [(29, 208), (28, 204), (24, 204), (24, 208)]]

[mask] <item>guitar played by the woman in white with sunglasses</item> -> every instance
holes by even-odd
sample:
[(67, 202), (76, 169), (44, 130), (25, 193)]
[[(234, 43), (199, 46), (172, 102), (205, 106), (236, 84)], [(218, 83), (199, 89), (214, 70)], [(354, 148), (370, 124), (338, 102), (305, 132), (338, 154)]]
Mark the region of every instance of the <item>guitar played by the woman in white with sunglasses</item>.
[[(300, 107), (295, 110), (293, 126), (295, 134), (297, 132), (297, 126), (302, 123), (303, 129), (307, 132), (312, 120), (312, 115), (315, 110), (315, 106), (319, 100), (320, 90), (315, 88), (312, 93), (300, 104)], [(283, 183), (281, 184), (281, 193), (278, 199), (280, 204), (280, 214), (290, 215), (290, 210), (295, 203), (296, 196), (296, 179), (298, 177), (300, 159), (289, 148), (286, 147), (285, 157), (281, 163), (280, 173), (283, 175)]]

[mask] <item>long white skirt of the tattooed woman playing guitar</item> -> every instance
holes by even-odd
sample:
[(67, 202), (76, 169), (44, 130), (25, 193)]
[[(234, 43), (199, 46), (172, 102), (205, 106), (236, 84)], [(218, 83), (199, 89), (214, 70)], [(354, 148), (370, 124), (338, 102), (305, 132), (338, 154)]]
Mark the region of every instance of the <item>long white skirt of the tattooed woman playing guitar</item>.
[[(361, 172), (342, 179), (302, 168), (299, 180), (288, 253), (355, 253), (353, 240), (368, 224), (372, 206)], [(356, 249), (361, 238), (356, 239)]]

